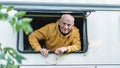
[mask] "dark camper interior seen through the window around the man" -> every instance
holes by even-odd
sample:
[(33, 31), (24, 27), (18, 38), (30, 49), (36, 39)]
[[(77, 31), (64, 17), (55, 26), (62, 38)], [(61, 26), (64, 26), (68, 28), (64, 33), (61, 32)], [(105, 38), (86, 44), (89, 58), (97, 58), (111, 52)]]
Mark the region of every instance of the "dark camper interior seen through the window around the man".
[[(27, 12), (27, 15), (25, 17), (33, 18), (33, 21), (31, 22), (31, 26), (33, 30), (39, 29), (42, 26), (45, 26), (48, 23), (56, 22), (58, 19), (60, 19), (61, 15), (63, 13), (33, 13), (33, 12)], [(75, 26), (79, 28), (80, 31), (80, 37), (81, 37), (81, 44), (82, 44), (82, 50), (77, 52), (84, 52), (86, 50), (86, 43), (84, 44), (83, 39), (83, 25), (86, 23), (84, 20), (85, 14), (84, 13), (71, 13), (75, 17)], [(85, 26), (85, 25), (84, 25)], [(87, 30), (85, 30), (87, 31)], [(85, 33), (86, 34), (86, 33)], [(87, 35), (87, 34), (86, 34)], [(24, 52), (34, 52), (34, 50), (31, 48), (29, 41), (28, 41), (28, 35), (25, 33), (23, 34), (23, 42), (24, 42)], [(87, 36), (85, 36), (87, 37)], [(85, 39), (87, 41), (87, 39)], [(40, 41), (40, 44), (44, 45), (44, 40)]]

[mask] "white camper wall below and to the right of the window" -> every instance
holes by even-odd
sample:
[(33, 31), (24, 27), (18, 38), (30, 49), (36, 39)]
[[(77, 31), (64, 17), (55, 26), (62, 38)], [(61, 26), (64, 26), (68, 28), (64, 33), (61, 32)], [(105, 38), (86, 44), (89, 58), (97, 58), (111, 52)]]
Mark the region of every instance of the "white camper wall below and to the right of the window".
[[(87, 21), (89, 48), (87, 53), (67, 54), (58, 57), (57, 65), (79, 65), (85, 68), (118, 68), (120, 67), (120, 13), (112, 11), (93, 12)], [(56, 63), (56, 55), (43, 57), (40, 54), (23, 54), (27, 60), (23, 65), (52, 65)], [(46, 61), (48, 63), (46, 63)], [(35, 65), (35, 66), (34, 66)], [(86, 67), (87, 66), (87, 67)], [(27, 67), (27, 66), (22, 66)], [(53, 65), (54, 67), (54, 65)], [(58, 66), (59, 67), (59, 66)], [(57, 66), (56, 66), (57, 68)]]

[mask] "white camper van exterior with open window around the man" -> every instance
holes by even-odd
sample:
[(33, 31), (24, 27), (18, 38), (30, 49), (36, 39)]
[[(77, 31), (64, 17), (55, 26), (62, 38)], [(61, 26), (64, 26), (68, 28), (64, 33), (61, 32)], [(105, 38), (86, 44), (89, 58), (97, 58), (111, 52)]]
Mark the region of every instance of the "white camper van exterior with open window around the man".
[[(120, 5), (4, 1), (0, 4), (27, 11), (25, 17), (33, 18), (34, 30), (69, 13), (81, 31), (81, 51), (62, 55), (50, 52), (44, 57), (32, 50), (23, 30), (13, 33), (8, 23), (0, 21), (2, 46), (12, 47), (26, 58), (21, 68), (120, 68)], [(47, 21), (43, 22), (44, 19)]]

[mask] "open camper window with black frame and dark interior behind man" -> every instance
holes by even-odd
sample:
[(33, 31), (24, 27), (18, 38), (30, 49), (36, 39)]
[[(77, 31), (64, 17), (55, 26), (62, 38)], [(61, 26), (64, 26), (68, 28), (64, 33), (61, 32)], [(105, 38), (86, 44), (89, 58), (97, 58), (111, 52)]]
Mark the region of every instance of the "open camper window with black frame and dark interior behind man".
[[(62, 12), (54, 12), (54, 11), (28, 11), (25, 17), (33, 18), (33, 21), (31, 22), (31, 26), (33, 30), (39, 29), (42, 26), (45, 26), (48, 23), (56, 22), (57, 19), (61, 17), (61, 15), (64, 14)], [(85, 53), (88, 49), (88, 39), (87, 39), (87, 17), (86, 12), (72, 12), (70, 13), (75, 17), (75, 26), (80, 31), (80, 37), (81, 37), (81, 46), (82, 49), (79, 51), (76, 51), (74, 53)], [(44, 45), (44, 40), (40, 41), (41, 45)], [(18, 33), (18, 42), (17, 42), (17, 48), (22, 53), (36, 53), (28, 41), (28, 35), (26, 35), (23, 30), (21, 30)]]

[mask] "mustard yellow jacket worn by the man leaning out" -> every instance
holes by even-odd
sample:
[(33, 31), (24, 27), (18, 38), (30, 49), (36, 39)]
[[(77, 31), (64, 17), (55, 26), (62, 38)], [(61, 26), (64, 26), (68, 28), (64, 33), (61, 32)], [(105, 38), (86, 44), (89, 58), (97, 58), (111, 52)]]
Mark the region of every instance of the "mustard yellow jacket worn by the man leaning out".
[(74, 52), (81, 49), (80, 33), (74, 26), (68, 35), (63, 35), (58, 29), (58, 22), (48, 24), (29, 35), (29, 42), (35, 51), (41, 49), (39, 40), (45, 40), (45, 47), (55, 51), (59, 47), (67, 47), (67, 52)]

